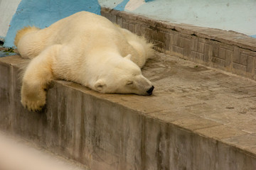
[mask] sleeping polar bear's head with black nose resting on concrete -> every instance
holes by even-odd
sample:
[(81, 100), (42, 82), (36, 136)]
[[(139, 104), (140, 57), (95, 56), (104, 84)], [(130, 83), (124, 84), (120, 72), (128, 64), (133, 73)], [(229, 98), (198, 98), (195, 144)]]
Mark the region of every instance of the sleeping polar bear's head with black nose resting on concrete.
[(106, 94), (151, 95), (154, 86), (132, 62), (131, 55), (109, 60), (95, 81), (92, 89)]

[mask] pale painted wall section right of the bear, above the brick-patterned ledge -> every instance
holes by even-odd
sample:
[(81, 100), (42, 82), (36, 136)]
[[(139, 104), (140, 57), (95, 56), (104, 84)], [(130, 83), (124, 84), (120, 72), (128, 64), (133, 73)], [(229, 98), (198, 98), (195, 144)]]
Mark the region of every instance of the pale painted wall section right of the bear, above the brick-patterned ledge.
[(256, 1), (240, 0), (157, 0), (157, 1), (105, 1), (102, 7), (127, 11), (171, 23), (234, 30), (246, 35), (256, 35)]

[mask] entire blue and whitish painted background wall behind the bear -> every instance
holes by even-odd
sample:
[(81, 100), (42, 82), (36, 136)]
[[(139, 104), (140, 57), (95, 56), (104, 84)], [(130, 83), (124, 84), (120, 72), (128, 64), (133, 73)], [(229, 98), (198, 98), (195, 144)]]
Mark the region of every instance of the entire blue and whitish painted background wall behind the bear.
[(252, 37), (256, 36), (256, 1), (254, 0), (22, 0), (18, 5), (20, 1), (0, 1), (2, 17), (0, 38), (5, 39), (6, 47), (14, 46), (16, 30), (23, 26), (45, 28), (78, 11), (100, 14), (100, 6), (170, 23), (234, 30)]

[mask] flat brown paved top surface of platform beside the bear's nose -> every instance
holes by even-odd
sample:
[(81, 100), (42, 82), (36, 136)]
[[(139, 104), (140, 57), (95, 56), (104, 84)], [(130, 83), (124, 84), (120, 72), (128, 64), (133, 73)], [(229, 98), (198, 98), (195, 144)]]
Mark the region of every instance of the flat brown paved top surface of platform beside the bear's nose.
[(256, 154), (256, 81), (163, 54), (144, 69), (154, 95), (125, 106)]

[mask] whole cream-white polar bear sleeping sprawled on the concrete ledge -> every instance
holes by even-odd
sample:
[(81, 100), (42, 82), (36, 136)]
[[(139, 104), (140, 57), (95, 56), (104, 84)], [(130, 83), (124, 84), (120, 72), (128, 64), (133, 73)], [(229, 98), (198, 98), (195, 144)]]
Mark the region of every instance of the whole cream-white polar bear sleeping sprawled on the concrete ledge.
[(53, 79), (74, 81), (100, 93), (151, 95), (141, 68), (154, 54), (152, 44), (94, 13), (81, 11), (48, 28), (26, 27), (14, 40), (31, 59), (22, 77), (21, 103), (41, 111)]

